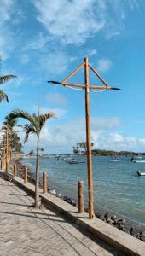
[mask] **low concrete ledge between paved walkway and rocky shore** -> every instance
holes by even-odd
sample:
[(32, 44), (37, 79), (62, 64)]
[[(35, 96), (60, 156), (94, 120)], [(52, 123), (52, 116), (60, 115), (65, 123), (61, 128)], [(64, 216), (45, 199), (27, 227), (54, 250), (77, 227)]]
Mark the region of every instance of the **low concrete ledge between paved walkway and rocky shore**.
[[(14, 177), (13, 183), (34, 195), (35, 187), (31, 183), (24, 184), (24, 181), (20, 177)], [(101, 238), (103, 241), (106, 241), (107, 244), (115, 247), (120, 252), (125, 253), (125, 255), (145, 255), (145, 243), (143, 241), (104, 223), (96, 217), (89, 219), (86, 212), (83, 214), (78, 213), (78, 208), (73, 207), (66, 201), (62, 201), (59, 197), (55, 197), (49, 193), (43, 194), (42, 189), (40, 189), (40, 196), (47, 207), (55, 212), (60, 212), (65, 217), (81, 226), (84, 230), (90, 231), (90, 233)]]

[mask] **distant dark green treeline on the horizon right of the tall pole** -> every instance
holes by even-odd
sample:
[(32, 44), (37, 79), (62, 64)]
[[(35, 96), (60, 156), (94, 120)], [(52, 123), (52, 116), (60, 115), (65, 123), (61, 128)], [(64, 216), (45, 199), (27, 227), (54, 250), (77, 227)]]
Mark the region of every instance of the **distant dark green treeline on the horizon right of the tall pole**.
[(91, 153), (93, 155), (145, 155), (145, 153), (136, 153), (130, 151), (113, 151), (113, 150), (101, 150), (101, 149), (92, 149)]

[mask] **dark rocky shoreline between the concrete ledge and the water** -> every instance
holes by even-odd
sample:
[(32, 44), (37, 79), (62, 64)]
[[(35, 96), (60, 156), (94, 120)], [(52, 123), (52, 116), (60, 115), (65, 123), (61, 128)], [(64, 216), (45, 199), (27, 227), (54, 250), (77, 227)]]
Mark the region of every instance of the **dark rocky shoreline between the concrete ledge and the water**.
[[(23, 172), (24, 172), (25, 168), (27, 167), (28, 182), (35, 184), (35, 178), (31, 171), (31, 167), (21, 163), (20, 160), (22, 160), (22, 158), (11, 160), (11, 163), (9, 165), (9, 171), (10, 171), (10, 168), (12, 169), (12, 166), (14, 166), (14, 164), (16, 164), (17, 170), (18, 170), (17, 175), (18, 175), (18, 177), (23, 178)], [(42, 188), (43, 185), (41, 182), (39, 182), (39, 186)], [(69, 197), (69, 195), (62, 195), (60, 193), (60, 191), (57, 191), (57, 189), (55, 189), (55, 188), (52, 188), (52, 189), (49, 188), (48, 192), (52, 195), (55, 195), (56, 197), (61, 198), (61, 200), (63, 200), (63, 201), (67, 201), (67, 203), (73, 205), (74, 207), (78, 206), (78, 203), (73, 198)], [(88, 209), (85, 208), (84, 211), (88, 212)], [(105, 210), (102, 211), (101, 209), (97, 209), (95, 212), (95, 215), (96, 215), (96, 218), (100, 218), (102, 221), (106, 222), (107, 224), (111, 224), (111, 225), (115, 226), (116, 228), (118, 228), (119, 230), (122, 230), (125, 233), (130, 234), (131, 236), (135, 236), (137, 239), (140, 239), (141, 241), (145, 241), (145, 226), (144, 226), (144, 224), (135, 225), (135, 224), (131, 223), (131, 221), (129, 221), (127, 219), (127, 217), (122, 218), (121, 214), (120, 214), (120, 216), (117, 216), (115, 213), (110, 213)]]

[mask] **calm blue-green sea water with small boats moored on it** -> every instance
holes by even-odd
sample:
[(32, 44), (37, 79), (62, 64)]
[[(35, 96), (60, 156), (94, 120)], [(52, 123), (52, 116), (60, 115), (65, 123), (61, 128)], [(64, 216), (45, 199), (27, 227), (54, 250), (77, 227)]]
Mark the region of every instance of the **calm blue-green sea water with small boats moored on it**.
[[(79, 157), (84, 164), (70, 165), (54, 158), (40, 159), (40, 177), (48, 172), (49, 187), (62, 195), (77, 199), (78, 180), (84, 181), (84, 196), (87, 206), (86, 157)], [(128, 218), (145, 223), (145, 177), (136, 177), (136, 171), (145, 171), (145, 163), (131, 163), (131, 158), (121, 157), (118, 162), (107, 161), (109, 157), (93, 157), (95, 208), (110, 209)], [(35, 159), (24, 159), (35, 172)]]

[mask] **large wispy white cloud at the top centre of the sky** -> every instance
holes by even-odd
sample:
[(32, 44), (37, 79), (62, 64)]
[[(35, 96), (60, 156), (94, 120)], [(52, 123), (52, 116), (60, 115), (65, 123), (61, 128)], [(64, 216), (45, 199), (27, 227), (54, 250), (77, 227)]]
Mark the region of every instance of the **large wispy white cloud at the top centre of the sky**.
[(94, 15), (95, 0), (35, 1), (40, 21), (49, 34), (61, 39), (64, 44), (81, 44), (85, 39), (100, 31), (103, 20)]

